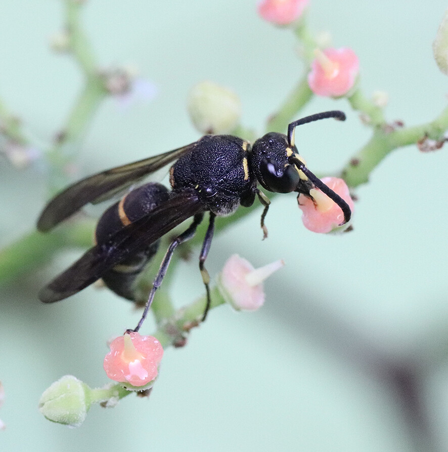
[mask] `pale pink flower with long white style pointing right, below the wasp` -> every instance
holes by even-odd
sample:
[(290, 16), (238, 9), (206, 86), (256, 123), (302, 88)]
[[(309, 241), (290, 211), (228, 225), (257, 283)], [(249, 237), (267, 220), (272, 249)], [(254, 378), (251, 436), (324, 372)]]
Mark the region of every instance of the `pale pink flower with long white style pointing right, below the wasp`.
[(219, 276), (219, 292), (237, 311), (255, 311), (264, 303), (263, 280), (284, 265), (279, 260), (255, 269), (246, 259), (234, 254)]

